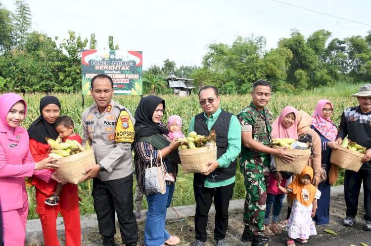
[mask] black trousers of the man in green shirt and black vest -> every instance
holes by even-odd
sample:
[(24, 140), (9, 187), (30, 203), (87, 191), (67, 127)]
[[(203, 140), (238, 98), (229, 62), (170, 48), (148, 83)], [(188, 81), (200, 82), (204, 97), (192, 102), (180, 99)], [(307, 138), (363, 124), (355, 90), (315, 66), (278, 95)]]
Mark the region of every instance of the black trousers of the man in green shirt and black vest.
[(228, 208), (233, 195), (234, 182), (227, 186), (217, 188), (200, 187), (193, 183), (194, 199), (196, 200), (196, 214), (194, 216), (194, 230), (196, 239), (201, 242), (207, 240), (207, 219), (214, 198), (215, 228), (214, 239), (222, 240), (226, 237), (228, 229)]

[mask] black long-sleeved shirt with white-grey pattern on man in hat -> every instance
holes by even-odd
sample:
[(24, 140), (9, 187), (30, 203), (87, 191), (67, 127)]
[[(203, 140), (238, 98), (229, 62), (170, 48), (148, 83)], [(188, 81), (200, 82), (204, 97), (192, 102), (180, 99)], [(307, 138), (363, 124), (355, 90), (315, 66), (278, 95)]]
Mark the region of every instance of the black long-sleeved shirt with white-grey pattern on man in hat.
[[(360, 106), (349, 107), (341, 114), (340, 129), (337, 139), (348, 139), (371, 148), (371, 111), (362, 112)], [(371, 161), (364, 162), (361, 169), (371, 170)]]

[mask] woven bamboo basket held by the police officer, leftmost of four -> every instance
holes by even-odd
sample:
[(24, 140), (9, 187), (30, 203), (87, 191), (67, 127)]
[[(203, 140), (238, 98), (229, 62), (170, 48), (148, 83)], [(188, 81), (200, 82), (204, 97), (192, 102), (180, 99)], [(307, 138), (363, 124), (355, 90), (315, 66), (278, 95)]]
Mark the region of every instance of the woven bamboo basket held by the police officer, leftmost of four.
[(54, 164), (59, 166), (55, 173), (60, 181), (78, 184), (84, 176), (83, 171), (95, 164), (93, 149), (60, 158)]

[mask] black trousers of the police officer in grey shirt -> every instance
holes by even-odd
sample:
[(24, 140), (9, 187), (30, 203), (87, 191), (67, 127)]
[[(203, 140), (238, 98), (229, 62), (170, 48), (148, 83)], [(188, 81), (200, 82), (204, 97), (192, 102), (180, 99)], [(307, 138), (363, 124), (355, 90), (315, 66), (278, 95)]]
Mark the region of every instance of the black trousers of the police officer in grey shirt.
[(138, 241), (137, 220), (133, 213), (133, 174), (109, 181), (93, 178), (93, 198), (100, 235), (115, 235), (116, 211), (123, 244)]

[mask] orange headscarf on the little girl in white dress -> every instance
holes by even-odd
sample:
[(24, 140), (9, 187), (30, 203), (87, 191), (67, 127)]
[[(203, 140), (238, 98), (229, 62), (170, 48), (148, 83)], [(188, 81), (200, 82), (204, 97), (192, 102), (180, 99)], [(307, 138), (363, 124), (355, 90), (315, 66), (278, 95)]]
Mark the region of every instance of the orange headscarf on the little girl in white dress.
[[(309, 182), (307, 185), (304, 185), (300, 182), (300, 179), (304, 175), (309, 175), (311, 177), (311, 182)], [(296, 176), (294, 181), (287, 186), (287, 188), (292, 190), (292, 192), (289, 193), (291, 200), (294, 201), (296, 198), (299, 203), (306, 207), (311, 205), (317, 192), (317, 188), (312, 184), (312, 180), (313, 169), (310, 166), (304, 166), (301, 174)]]

